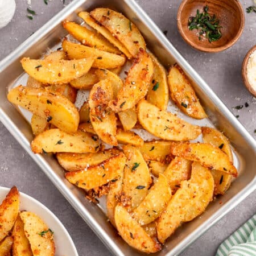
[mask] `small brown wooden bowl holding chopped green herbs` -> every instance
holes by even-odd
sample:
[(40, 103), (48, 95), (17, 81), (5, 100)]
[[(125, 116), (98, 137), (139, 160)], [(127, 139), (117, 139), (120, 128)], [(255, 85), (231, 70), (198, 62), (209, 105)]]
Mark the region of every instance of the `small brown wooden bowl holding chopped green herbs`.
[[(220, 20), (222, 36), (210, 43), (207, 38), (199, 40), (197, 30), (188, 29), (188, 18), (200, 13), (204, 6), (209, 6), (208, 13), (215, 14)], [(203, 52), (220, 52), (233, 46), (240, 38), (245, 26), (245, 15), (238, 0), (183, 0), (177, 13), (177, 27), (185, 42)]]

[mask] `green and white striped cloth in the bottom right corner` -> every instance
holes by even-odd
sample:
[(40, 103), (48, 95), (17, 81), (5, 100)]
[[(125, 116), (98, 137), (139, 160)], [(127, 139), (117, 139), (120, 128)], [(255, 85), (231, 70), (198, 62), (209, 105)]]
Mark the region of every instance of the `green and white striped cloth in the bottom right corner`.
[(216, 256), (256, 256), (256, 214), (221, 243)]

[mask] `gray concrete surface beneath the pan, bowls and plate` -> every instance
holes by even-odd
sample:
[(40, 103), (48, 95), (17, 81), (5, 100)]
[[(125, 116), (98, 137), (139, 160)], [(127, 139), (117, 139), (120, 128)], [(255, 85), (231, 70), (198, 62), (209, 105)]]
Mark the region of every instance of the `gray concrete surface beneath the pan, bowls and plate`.
[[(69, 2), (71, 1), (66, 0), (65, 4)], [(180, 0), (137, 0), (137, 2), (163, 31), (168, 31), (167, 38), (208, 82), (234, 115), (240, 115), (240, 122), (255, 138), (256, 99), (243, 86), (241, 64), (246, 52), (256, 43), (256, 15), (245, 14), (245, 30), (235, 46), (221, 53), (209, 54), (193, 50), (181, 39), (176, 28), (176, 13)], [(252, 4), (252, 1), (241, 1), (241, 3), (245, 9)], [(29, 20), (26, 18), (27, 1), (16, 0), (16, 4), (14, 19), (7, 27), (0, 30), (0, 60), (64, 7), (62, 0), (48, 1), (48, 5), (45, 5), (43, 0), (31, 0), (31, 9), (35, 10), (37, 15), (33, 20)], [(2, 86), (4, 86), (3, 81)], [(233, 109), (234, 106), (244, 105), (245, 102), (249, 104), (248, 108)], [(71, 234), (79, 255), (110, 255), (106, 247), (2, 124), (0, 124), (0, 151), (1, 186), (11, 187), (15, 184), (20, 191), (35, 197), (52, 210)], [(181, 255), (214, 255), (221, 241), (256, 212), (255, 197), (256, 192), (210, 228)]]

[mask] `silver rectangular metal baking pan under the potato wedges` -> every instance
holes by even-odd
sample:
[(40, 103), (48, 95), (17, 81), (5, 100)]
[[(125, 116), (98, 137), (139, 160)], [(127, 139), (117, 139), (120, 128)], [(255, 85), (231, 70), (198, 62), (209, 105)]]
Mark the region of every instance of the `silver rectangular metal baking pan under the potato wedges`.
[[(92, 10), (95, 7), (109, 7), (121, 11), (138, 26), (146, 39), (148, 49), (155, 53), (166, 68), (175, 62), (183, 68), (192, 80), (197, 96), (199, 96), (209, 117), (208, 121), (193, 121), (193, 123), (217, 127), (229, 138), (234, 149), (233, 153), (236, 159), (234, 164), (238, 169), (239, 176), (234, 180), (230, 189), (224, 196), (210, 203), (206, 212), (200, 217), (177, 229), (175, 234), (167, 240), (163, 250), (158, 253), (158, 255), (177, 255), (254, 191), (256, 187), (256, 143), (241, 123), (237, 121), (237, 118), (226, 108), (174, 46), (168, 42), (162, 31), (156, 27), (135, 1), (75, 0), (2, 60), (0, 63), (0, 80), (2, 81), (0, 120), (113, 254), (142, 254), (132, 249), (117, 235), (115, 229), (107, 221), (108, 218), (104, 213), (105, 209), (102, 204), (90, 203), (84, 198), (84, 193), (65, 180), (63, 169), (53, 156), (32, 153), (30, 150), (32, 140), (30, 124), (20, 115), (19, 109), (10, 104), (6, 98), (7, 92), (24, 79), (19, 60), (24, 56), (40, 58), (48, 49), (56, 48), (61, 39), (67, 35), (61, 26), (61, 21), (69, 19), (81, 23), (77, 13), (82, 10)], [(26, 113), (23, 115), (26, 116)], [(189, 120), (192, 121), (192, 119)]]

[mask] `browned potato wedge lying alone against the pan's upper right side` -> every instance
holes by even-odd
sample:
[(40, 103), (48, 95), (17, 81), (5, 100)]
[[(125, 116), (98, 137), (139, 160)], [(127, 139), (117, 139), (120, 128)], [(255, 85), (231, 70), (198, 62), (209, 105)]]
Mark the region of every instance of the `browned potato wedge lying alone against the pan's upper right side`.
[(196, 93), (179, 65), (175, 64), (168, 73), (168, 84), (171, 98), (182, 112), (189, 117), (203, 119), (207, 117)]

